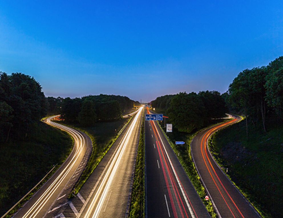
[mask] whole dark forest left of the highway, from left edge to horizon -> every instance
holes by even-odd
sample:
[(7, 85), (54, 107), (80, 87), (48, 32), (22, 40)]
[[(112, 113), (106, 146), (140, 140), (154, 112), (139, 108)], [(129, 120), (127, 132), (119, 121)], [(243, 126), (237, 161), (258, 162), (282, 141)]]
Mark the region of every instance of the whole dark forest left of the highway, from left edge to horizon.
[(122, 113), (139, 105), (126, 96), (89, 95), (82, 98), (45, 97), (41, 85), (22, 73), (0, 72), (0, 142), (26, 139), (41, 118), (61, 114), (68, 122), (83, 126), (120, 119)]

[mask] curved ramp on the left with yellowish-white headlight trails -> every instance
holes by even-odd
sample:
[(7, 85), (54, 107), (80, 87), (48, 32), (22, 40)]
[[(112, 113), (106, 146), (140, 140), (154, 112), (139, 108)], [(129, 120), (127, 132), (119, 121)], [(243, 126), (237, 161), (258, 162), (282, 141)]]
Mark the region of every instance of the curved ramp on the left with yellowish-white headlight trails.
[(82, 173), (92, 151), (91, 140), (86, 134), (67, 126), (52, 122), (56, 116), (49, 117), (45, 122), (68, 132), (74, 139), (74, 147), (66, 161), (48, 179), (48, 181), (25, 203), (14, 217), (45, 217), (48, 209), (56, 205), (56, 200), (67, 198), (73, 184)]

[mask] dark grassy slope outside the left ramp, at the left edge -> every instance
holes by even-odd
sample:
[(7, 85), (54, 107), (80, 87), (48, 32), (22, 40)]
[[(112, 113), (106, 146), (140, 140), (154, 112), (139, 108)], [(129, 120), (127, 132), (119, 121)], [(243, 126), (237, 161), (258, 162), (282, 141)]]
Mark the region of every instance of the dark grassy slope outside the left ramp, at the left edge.
[(26, 140), (0, 145), (0, 214), (3, 215), (54, 169), (6, 217), (11, 217), (47, 181), (72, 150), (72, 138), (42, 122), (35, 124)]

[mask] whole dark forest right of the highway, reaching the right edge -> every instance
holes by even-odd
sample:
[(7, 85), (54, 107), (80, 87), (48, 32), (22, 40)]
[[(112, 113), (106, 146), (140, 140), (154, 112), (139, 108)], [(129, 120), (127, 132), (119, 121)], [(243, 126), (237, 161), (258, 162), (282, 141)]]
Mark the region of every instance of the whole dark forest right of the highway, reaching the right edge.
[(249, 122), (252, 125), (261, 123), (266, 132), (266, 119), (283, 121), (283, 56), (268, 66), (243, 70), (223, 94), (217, 91), (180, 92), (157, 97), (151, 101), (151, 106), (169, 116), (169, 122), (180, 132), (193, 132), (227, 112), (245, 116), (247, 137)]

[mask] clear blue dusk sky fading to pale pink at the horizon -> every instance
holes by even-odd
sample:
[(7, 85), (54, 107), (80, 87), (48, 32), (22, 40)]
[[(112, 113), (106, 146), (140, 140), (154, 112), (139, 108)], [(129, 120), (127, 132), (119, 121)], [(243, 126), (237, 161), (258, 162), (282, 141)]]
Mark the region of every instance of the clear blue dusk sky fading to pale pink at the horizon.
[(0, 70), (46, 96), (225, 92), (283, 55), (283, 1), (1, 1)]

